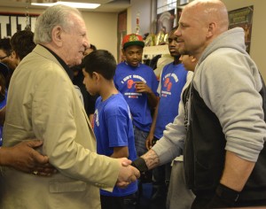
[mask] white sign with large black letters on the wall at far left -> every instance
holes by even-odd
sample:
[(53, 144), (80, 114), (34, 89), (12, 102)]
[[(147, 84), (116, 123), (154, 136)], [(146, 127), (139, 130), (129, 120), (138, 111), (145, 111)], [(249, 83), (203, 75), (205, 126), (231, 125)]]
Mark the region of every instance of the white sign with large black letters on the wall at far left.
[(39, 14), (0, 12), (0, 38), (11, 37), (17, 31), (24, 30), (27, 24), (35, 29), (35, 21)]

